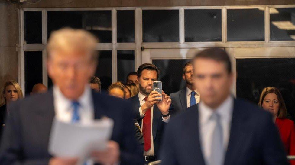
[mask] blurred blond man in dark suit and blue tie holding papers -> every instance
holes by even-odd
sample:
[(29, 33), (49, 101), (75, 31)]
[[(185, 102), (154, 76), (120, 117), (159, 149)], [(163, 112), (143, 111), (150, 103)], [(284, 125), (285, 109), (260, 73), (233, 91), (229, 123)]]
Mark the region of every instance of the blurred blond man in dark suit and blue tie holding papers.
[(48, 153), (54, 117), (82, 125), (91, 124), (94, 119), (112, 118), (111, 140), (104, 151), (92, 151), (91, 163), (142, 163), (142, 148), (133, 132), (131, 105), (122, 99), (92, 92), (88, 84), (96, 71), (96, 43), (96, 38), (84, 30), (67, 28), (51, 34), (47, 67), (53, 89), (9, 107), (11, 111), (1, 141), (1, 165), (76, 164), (79, 161), (76, 157), (52, 157)]

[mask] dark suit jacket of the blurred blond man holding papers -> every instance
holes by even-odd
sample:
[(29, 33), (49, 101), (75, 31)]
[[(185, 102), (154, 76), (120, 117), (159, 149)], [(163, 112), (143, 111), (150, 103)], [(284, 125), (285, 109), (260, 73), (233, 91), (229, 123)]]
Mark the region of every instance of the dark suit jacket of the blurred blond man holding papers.
[[(114, 120), (111, 140), (120, 145), (121, 164), (139, 164), (143, 151), (134, 137), (131, 106), (115, 97), (92, 93), (94, 117)], [(115, 103), (115, 104), (114, 104)], [(9, 107), (0, 149), (0, 164), (48, 164), (48, 141), (55, 115), (53, 91), (20, 100)]]

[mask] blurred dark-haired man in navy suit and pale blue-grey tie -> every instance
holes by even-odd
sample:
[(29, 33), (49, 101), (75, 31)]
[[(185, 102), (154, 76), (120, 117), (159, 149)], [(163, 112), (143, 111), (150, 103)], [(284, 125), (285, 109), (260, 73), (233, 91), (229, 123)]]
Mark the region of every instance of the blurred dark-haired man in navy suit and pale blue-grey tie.
[(288, 164), (271, 114), (230, 94), (228, 54), (219, 48), (203, 50), (193, 67), (201, 102), (167, 125), (161, 164)]

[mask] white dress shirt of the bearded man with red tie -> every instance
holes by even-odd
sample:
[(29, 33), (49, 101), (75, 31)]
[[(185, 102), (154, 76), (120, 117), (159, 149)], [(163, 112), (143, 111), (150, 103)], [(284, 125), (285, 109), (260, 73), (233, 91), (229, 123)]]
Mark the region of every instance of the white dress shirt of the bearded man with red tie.
[[(139, 98), (139, 102), (140, 102), (139, 114), (143, 118), (145, 116), (145, 114), (142, 113), (141, 106), (144, 105), (144, 103), (145, 103), (144, 98), (146, 98), (146, 97), (139, 92), (138, 98)], [(148, 151), (144, 151), (144, 154), (143, 154), (144, 156), (153, 156), (154, 155), (153, 112), (154, 112), (154, 105), (151, 107), (151, 148)], [(165, 123), (168, 123), (169, 119), (170, 119), (170, 115), (168, 116), (167, 119), (164, 119), (162, 116), (162, 121), (164, 121)], [(141, 120), (141, 132), (142, 132), (142, 125), (143, 125), (142, 123), (143, 123), (143, 119)]]

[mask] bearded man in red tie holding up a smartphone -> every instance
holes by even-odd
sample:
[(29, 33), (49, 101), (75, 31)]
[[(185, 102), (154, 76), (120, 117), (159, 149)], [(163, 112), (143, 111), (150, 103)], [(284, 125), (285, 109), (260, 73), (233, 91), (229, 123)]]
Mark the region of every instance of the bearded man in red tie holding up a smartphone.
[[(146, 163), (158, 160), (165, 123), (170, 119), (172, 108), (170, 96), (153, 91), (154, 82), (159, 78), (159, 69), (153, 64), (138, 67), (139, 93), (129, 101), (134, 105), (135, 118), (144, 136), (144, 160)], [(162, 99), (161, 101), (159, 101)], [(155, 105), (155, 106), (154, 106)]]

